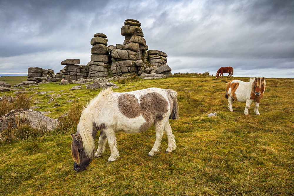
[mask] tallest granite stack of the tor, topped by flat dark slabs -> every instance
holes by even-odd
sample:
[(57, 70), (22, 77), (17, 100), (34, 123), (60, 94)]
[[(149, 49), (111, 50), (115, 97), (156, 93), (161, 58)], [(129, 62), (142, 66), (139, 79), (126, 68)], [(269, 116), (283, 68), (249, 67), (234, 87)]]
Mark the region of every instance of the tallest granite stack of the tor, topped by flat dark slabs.
[(143, 56), (146, 56), (148, 46), (143, 38), (141, 23), (127, 19), (121, 28), (121, 35), (125, 36), (123, 44), (116, 44), (111, 50), (111, 72), (113, 75), (131, 76), (138, 74)]

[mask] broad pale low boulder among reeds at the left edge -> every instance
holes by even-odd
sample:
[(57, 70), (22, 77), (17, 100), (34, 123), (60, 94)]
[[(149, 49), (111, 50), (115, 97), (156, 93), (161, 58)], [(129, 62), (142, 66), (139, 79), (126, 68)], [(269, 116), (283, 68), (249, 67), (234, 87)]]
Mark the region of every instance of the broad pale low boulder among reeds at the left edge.
[(14, 109), (0, 117), (0, 131), (6, 129), (9, 124), (16, 127), (16, 121), (44, 131), (53, 131), (58, 126), (58, 120), (45, 116), (44, 112), (31, 109)]

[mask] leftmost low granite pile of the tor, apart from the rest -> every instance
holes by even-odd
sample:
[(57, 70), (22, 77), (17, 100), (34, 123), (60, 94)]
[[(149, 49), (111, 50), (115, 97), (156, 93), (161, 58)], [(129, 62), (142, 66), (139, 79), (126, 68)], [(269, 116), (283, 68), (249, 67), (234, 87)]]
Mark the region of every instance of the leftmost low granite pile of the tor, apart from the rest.
[(29, 67), (28, 69), (28, 81), (39, 83), (43, 80), (51, 80), (54, 77), (54, 71), (51, 69), (44, 70), (40, 67)]

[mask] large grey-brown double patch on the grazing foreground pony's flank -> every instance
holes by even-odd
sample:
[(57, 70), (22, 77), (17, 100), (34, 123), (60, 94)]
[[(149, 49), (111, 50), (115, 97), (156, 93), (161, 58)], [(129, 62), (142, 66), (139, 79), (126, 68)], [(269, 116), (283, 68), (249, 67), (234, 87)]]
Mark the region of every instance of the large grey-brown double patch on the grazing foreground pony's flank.
[(140, 104), (133, 94), (122, 94), (118, 97), (118, 108), (128, 118), (136, 118), (142, 114), (146, 123), (141, 125), (140, 131), (147, 130), (152, 124), (163, 119), (168, 111), (167, 100), (157, 92), (140, 97)]

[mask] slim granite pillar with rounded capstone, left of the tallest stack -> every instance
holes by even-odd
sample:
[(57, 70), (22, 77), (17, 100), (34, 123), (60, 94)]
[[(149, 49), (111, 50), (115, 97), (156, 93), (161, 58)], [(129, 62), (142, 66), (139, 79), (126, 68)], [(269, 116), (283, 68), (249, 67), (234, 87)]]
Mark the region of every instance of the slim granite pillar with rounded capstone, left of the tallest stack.
[(96, 33), (91, 39), (91, 61), (88, 62), (88, 78), (96, 79), (110, 75), (111, 56), (107, 47), (107, 36), (103, 33)]

